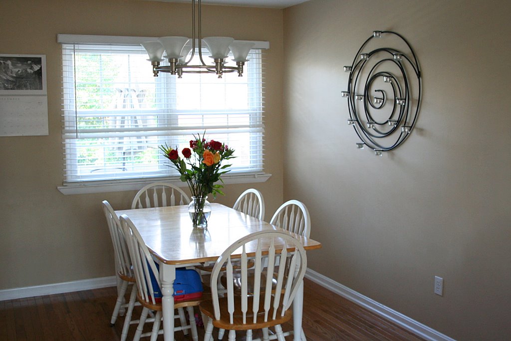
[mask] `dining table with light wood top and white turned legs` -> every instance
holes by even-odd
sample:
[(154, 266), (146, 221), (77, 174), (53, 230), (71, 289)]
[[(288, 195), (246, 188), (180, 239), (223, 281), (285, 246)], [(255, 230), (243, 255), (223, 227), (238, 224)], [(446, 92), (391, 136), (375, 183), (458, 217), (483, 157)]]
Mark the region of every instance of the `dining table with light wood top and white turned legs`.
[[(159, 263), (164, 316), (162, 325), (166, 341), (174, 340), (173, 283), (176, 268), (215, 262), (228, 246), (251, 233), (285, 231), (219, 203), (212, 203), (211, 208), (206, 229), (193, 228), (186, 205), (115, 211), (118, 216), (125, 214), (131, 219), (149, 252)], [(311, 238), (285, 232), (299, 239), (307, 251), (321, 247), (320, 242)], [(295, 341), (301, 340), (303, 290), (302, 282), (292, 306)], [(172, 317), (165, 318), (166, 316)]]

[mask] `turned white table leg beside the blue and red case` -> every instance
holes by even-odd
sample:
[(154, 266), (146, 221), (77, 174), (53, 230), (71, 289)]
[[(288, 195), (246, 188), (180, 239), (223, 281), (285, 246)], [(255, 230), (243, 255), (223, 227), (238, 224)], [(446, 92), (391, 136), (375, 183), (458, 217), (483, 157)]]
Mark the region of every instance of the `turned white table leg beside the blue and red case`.
[(161, 312), (163, 316), (163, 331), (165, 341), (174, 341), (174, 280), (176, 267), (160, 263), (161, 281)]

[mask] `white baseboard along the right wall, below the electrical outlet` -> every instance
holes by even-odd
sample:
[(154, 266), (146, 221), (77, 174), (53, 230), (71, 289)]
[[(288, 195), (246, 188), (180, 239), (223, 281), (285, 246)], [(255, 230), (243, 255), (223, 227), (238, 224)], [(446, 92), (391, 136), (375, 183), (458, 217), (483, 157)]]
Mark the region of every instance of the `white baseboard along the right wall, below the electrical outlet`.
[(321, 285), (324, 288), (329, 289), (330, 291), (335, 292), (336, 294), (342, 296), (345, 299), (348, 299), (369, 311), (378, 314), (385, 319), (397, 324), (398, 326), (413, 332), (415, 335), (425, 338), (430, 341), (455, 341), (453, 338), (450, 338), (447, 335), (437, 332), (436, 330), (423, 325), (420, 322), (417, 322), (410, 317), (403, 315), (396, 310), (392, 310), (383, 304), (380, 304), (370, 298), (358, 293), (355, 290), (352, 290), (340, 283), (335, 282), (334, 280), (319, 274), (318, 272), (307, 269), (306, 278), (311, 281)]

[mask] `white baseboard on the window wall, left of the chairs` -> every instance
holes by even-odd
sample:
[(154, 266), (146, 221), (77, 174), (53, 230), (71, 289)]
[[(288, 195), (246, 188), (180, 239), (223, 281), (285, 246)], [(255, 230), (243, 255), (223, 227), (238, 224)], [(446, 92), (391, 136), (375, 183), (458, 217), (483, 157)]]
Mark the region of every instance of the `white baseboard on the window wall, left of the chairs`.
[(64, 283), (36, 285), (24, 288), (5, 289), (0, 290), (0, 301), (22, 299), (25, 297), (51, 295), (54, 293), (98, 289), (115, 285), (117, 285), (117, 277), (110, 276)]

